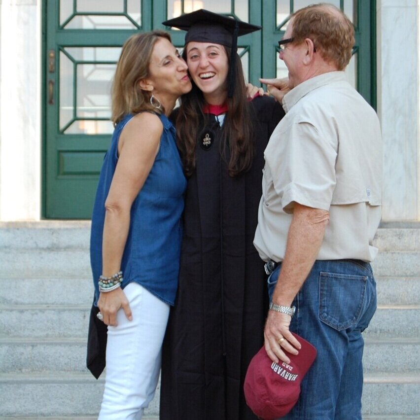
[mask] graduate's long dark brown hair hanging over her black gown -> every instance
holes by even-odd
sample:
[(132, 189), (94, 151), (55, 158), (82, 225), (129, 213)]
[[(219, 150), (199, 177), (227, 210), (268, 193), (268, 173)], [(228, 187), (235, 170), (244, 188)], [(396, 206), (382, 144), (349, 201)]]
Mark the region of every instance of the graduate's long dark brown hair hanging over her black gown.
[[(230, 67), (231, 49), (228, 47), (224, 48), (228, 57), (228, 66)], [(186, 60), (186, 46), (182, 56)], [(242, 63), (238, 54), (235, 55), (235, 60), (235, 88), (233, 97), (227, 98), (228, 112), (222, 127), (223, 144), (228, 144), (230, 148), (228, 165), (230, 176), (237, 176), (246, 172), (252, 164), (254, 155), (251, 114), (246, 98)], [(180, 98), (180, 107), (175, 123), (177, 144), (184, 165), (184, 172), (187, 176), (191, 176), (195, 171), (195, 149), (197, 136), (199, 135), (200, 119), (204, 119), (205, 125), (208, 123), (203, 113), (203, 108), (206, 104), (203, 93), (193, 80), (191, 80), (191, 83), (193, 86), (191, 92), (182, 95)]]

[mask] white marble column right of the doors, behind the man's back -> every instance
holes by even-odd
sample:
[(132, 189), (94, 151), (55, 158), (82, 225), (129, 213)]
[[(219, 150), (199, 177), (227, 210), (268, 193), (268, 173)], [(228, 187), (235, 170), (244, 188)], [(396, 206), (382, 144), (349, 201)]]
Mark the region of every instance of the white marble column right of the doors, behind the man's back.
[(420, 220), (419, 0), (377, 1), (383, 220)]

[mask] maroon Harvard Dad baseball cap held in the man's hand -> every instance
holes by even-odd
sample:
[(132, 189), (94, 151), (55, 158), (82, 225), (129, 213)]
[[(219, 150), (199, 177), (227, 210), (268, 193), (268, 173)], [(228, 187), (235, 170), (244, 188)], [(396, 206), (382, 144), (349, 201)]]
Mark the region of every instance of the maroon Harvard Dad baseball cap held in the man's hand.
[(300, 394), (300, 383), (314, 363), (316, 349), (292, 333), (301, 344), (298, 355), (285, 353), (290, 363), (273, 362), (264, 346), (249, 363), (245, 376), (245, 400), (256, 416), (263, 420), (274, 420), (285, 416), (296, 404)]

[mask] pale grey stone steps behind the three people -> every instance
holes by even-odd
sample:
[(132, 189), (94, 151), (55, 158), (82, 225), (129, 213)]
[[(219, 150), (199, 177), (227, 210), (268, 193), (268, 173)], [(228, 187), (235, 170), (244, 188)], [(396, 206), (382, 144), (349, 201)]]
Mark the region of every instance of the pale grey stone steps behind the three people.
[[(96, 418), (104, 375), (85, 368), (89, 226), (0, 222), (0, 419)], [(376, 244), (363, 419), (420, 419), (420, 224), (382, 228)], [(145, 419), (158, 419), (158, 401)]]

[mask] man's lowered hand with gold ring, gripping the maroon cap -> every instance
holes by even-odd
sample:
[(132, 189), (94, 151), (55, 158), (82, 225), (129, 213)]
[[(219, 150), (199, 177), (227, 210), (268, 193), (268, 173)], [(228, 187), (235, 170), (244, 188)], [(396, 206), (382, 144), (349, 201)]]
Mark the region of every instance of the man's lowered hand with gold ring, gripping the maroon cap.
[(283, 350), (290, 354), (299, 353), (298, 350), (301, 345), (289, 331), (291, 319), (290, 315), (268, 311), (264, 328), (264, 347), (273, 362), (279, 363), (280, 359), (283, 362), (290, 363), (290, 359)]

